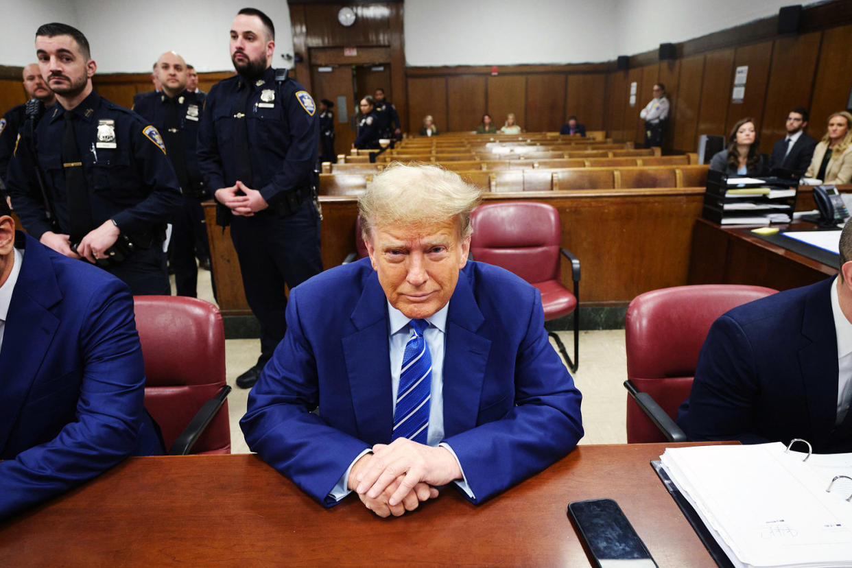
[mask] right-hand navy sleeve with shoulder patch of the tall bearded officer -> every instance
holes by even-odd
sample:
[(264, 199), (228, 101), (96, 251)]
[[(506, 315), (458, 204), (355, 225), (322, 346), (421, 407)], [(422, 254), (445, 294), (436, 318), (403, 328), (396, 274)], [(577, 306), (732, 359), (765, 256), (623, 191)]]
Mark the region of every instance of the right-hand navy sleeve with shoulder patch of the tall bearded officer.
[(261, 192), (267, 203), (271, 203), (282, 192), (290, 192), (308, 184), (319, 153), (320, 118), (316, 110), (313, 113), (305, 110), (296, 93), (287, 99), (287, 120), (290, 123), (290, 146), (284, 163), (273, 175), (272, 181), (266, 186), (254, 188)]

